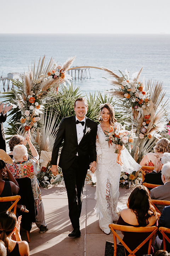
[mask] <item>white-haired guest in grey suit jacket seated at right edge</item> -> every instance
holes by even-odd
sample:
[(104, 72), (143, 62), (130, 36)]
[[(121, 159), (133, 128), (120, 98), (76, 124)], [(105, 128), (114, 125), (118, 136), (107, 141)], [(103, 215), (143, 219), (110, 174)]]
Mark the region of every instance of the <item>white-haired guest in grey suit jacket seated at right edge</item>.
[[(157, 200), (170, 200), (170, 162), (164, 164), (162, 167), (162, 181), (164, 185), (155, 187), (151, 190), (151, 198)], [(156, 207), (163, 211), (164, 206), (156, 205)]]

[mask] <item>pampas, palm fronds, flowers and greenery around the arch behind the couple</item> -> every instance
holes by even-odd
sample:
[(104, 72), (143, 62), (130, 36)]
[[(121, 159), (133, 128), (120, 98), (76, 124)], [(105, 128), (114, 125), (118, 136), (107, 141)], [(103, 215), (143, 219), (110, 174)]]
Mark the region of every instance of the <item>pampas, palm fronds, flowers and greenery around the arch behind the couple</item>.
[[(22, 82), (12, 81), (17, 87), (16, 90), (12, 89), (4, 94), (4, 98), (8, 98), (15, 107), (10, 113), (11, 119), (6, 133), (21, 134), (27, 129), (31, 130), (33, 143), (40, 154), (41, 172), (38, 179), (40, 185), (44, 187), (62, 181), (61, 170), (57, 177), (54, 177), (50, 171), (51, 152), (58, 125), (63, 117), (74, 115), (74, 101), (78, 97), (87, 98), (89, 105), (87, 117), (92, 120), (98, 122), (99, 106), (108, 102), (115, 106), (115, 117), (119, 123), (128, 125), (129, 129), (131, 126), (136, 128), (138, 136), (135, 138), (131, 153), (138, 162), (145, 152), (152, 151), (155, 140), (159, 136), (164, 136), (164, 132), (159, 134), (164, 129), (168, 105), (167, 102), (162, 104), (164, 97), (162, 84), (152, 84), (148, 81), (145, 92), (144, 81), (138, 82), (141, 70), (130, 79), (127, 71), (125, 75), (120, 72), (122, 76), (118, 76), (111, 70), (103, 68), (114, 79), (116, 78), (116, 81), (111, 80), (111, 83), (118, 89), (111, 91), (111, 97), (107, 94), (102, 96), (100, 92), (87, 97), (72, 84), (68, 87), (65, 85), (58, 87), (68, 81), (69, 77), (64, 72), (66, 73), (73, 60), (74, 58), (69, 59), (61, 67), (54, 64), (52, 59), (45, 64), (44, 57), (39, 60), (36, 71), (34, 63), (31, 71), (22, 75)], [(113, 98), (115, 95), (117, 100)], [(161, 108), (158, 111), (159, 105)], [(160, 120), (164, 122), (161, 123)], [(120, 184), (129, 187), (138, 184), (137, 174), (122, 173)]]

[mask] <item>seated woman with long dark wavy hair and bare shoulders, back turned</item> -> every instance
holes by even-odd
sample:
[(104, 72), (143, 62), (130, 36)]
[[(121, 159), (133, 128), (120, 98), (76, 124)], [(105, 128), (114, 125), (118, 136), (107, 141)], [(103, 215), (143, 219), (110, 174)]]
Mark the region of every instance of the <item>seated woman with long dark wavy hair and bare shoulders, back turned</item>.
[[(117, 224), (135, 227), (155, 226), (159, 214), (151, 204), (149, 191), (145, 186), (137, 186), (128, 198), (128, 209), (123, 209)], [(148, 233), (124, 232), (123, 241), (133, 251), (148, 236)], [(149, 241), (139, 249), (135, 255), (146, 255)], [(153, 248), (152, 248), (153, 251)]]

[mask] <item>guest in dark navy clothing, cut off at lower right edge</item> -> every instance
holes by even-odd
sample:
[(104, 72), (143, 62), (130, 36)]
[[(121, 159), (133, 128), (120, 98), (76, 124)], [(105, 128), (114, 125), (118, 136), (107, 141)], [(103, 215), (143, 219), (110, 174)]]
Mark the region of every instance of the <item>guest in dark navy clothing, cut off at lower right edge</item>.
[[(164, 227), (164, 228), (170, 228), (170, 206), (165, 206), (162, 214), (160, 215), (159, 222), (158, 222), (158, 228), (159, 227)], [(170, 235), (167, 234), (167, 236), (170, 238)], [(154, 249), (162, 249), (163, 248), (163, 240), (162, 240), (162, 234), (160, 231), (158, 231), (158, 236), (155, 239), (155, 245)], [(170, 252), (170, 244), (168, 241), (166, 241), (166, 250)]]

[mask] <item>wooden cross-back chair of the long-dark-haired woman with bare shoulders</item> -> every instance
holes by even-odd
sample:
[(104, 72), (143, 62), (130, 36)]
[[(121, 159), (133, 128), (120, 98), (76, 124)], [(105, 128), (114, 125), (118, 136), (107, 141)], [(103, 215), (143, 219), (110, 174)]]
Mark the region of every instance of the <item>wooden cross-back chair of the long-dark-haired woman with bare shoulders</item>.
[[(126, 255), (126, 256), (135, 256), (135, 253), (149, 240), (147, 254), (151, 254), (151, 245), (152, 245), (153, 236), (154, 234), (157, 233), (157, 230), (158, 230), (156, 226), (134, 227), (134, 226), (124, 226), (124, 225), (118, 225), (118, 224), (109, 224), (109, 228), (113, 232), (114, 256), (117, 255), (117, 239), (129, 252), (129, 255)], [(125, 242), (120, 238), (120, 236), (116, 233), (115, 230), (120, 230), (124, 232), (150, 233), (150, 235), (148, 235), (148, 237), (140, 245), (138, 245), (135, 250), (131, 251), (128, 245), (125, 244)]]

